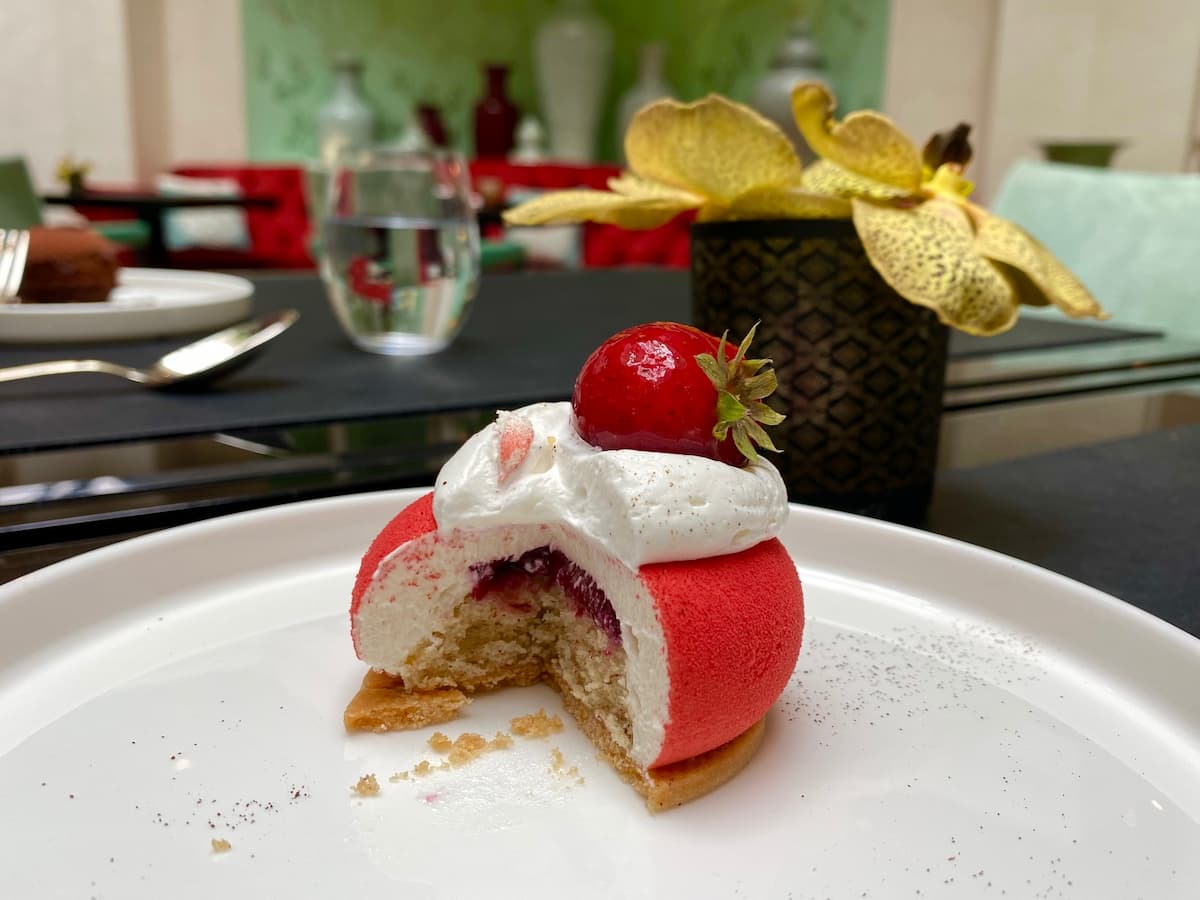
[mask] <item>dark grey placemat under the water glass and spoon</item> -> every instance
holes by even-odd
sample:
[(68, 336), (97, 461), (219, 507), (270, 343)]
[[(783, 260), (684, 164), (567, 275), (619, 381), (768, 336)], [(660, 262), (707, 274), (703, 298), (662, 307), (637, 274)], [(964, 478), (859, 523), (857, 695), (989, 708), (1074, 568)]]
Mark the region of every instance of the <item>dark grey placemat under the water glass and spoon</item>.
[[(262, 359), (204, 392), (157, 394), (101, 376), (0, 384), (0, 452), (563, 400), (583, 360), (608, 335), (641, 322), (688, 322), (691, 314), (688, 275), (682, 271), (492, 275), (449, 349), (400, 359), (354, 349), (314, 276), (259, 278), (254, 306), (259, 313), (295, 307), (301, 319)], [(955, 332), (950, 355), (1146, 334), (1026, 319), (994, 338)], [(64, 356), (140, 366), (181, 342), (0, 347), (0, 366)]]

